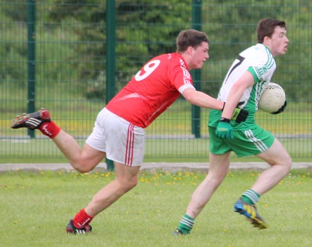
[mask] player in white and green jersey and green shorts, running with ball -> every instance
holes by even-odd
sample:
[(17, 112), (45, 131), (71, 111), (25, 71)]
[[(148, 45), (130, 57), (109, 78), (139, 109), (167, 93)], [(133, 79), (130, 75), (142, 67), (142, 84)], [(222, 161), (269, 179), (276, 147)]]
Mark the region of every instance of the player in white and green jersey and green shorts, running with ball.
[[(281, 142), (267, 130), (257, 126), (254, 113), (258, 110), (258, 101), (266, 83), (270, 82), (275, 71), (274, 58), (287, 51), (286, 24), (277, 19), (261, 19), (257, 36), (258, 43), (241, 52), (225, 76), (218, 94), (218, 99), (226, 102), (225, 109), (223, 112), (210, 111), (209, 173), (194, 191), (187, 212), (173, 232), (174, 235), (185, 235), (191, 231), (196, 216), (227, 175), (232, 151), (239, 157), (256, 155), (270, 165), (234, 204), (234, 211), (246, 216), (254, 227), (268, 228), (255, 205), (261, 195), (275, 187), (288, 174), (292, 161)], [(230, 118), (240, 101), (244, 102), (240, 107), (249, 112), (248, 119), (234, 123)], [(273, 114), (283, 112), (285, 107), (286, 101)]]

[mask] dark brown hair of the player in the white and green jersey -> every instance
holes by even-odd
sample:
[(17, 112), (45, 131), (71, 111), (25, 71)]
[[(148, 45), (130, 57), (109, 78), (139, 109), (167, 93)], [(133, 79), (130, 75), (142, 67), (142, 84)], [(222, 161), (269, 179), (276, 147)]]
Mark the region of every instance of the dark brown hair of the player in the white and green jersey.
[(278, 19), (261, 19), (258, 23), (258, 43), (263, 43), (264, 37), (272, 37), (277, 26), (286, 28), (286, 23)]

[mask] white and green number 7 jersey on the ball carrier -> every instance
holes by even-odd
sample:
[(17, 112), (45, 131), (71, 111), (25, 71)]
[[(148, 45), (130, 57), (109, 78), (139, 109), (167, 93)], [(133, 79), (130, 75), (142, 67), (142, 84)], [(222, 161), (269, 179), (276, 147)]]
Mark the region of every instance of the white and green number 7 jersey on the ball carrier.
[[(270, 82), (275, 69), (275, 60), (270, 50), (263, 44), (256, 44), (245, 49), (234, 60), (225, 76), (225, 80), (223, 80), (218, 94), (219, 100), (227, 101), (229, 91), (245, 71), (250, 71), (254, 76), (254, 85), (246, 88), (240, 99), (240, 101), (245, 102), (240, 107), (249, 112), (248, 119), (243, 123), (231, 121), (234, 130), (246, 130), (250, 128), (250, 124), (254, 124), (254, 113), (258, 110), (259, 99), (266, 88), (266, 84)], [(208, 126), (216, 127), (221, 114), (222, 112), (218, 110), (210, 110)]]

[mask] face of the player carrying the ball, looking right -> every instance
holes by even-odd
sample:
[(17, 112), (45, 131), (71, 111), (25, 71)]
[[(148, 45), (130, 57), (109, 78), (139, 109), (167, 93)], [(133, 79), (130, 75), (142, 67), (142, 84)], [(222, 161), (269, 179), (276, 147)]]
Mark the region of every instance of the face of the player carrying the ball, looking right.
[(271, 42), (271, 53), (272, 55), (279, 56), (283, 55), (287, 51), (288, 38), (286, 37), (286, 29), (280, 26), (275, 27), (272, 37), (270, 37)]

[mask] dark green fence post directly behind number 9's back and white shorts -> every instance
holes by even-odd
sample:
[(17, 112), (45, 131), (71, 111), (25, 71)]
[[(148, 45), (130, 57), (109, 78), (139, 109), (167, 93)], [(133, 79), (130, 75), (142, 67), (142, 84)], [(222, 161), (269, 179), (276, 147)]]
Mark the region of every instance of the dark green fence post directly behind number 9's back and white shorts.
[[(106, 103), (116, 94), (116, 4), (106, 1)], [(107, 169), (114, 171), (114, 162), (106, 158)]]

